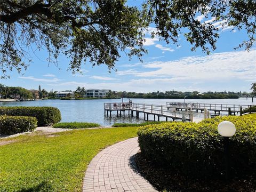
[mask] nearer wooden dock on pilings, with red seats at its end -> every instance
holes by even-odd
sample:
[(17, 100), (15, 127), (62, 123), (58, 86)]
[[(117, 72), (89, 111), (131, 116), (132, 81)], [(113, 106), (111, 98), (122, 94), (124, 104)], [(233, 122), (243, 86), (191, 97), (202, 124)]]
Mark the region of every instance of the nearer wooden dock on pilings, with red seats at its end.
[[(166, 121), (174, 121), (175, 119), (181, 119), (182, 121), (193, 122), (193, 111), (177, 111), (170, 110), (167, 106), (163, 105), (149, 105), (145, 103), (104, 103), (105, 115), (111, 117), (112, 112), (116, 111), (117, 116), (125, 115), (125, 111), (130, 116), (136, 116), (139, 118), (139, 114), (144, 114), (145, 121), (149, 120), (149, 115), (154, 116), (154, 121), (160, 121), (160, 117), (165, 117)], [(119, 114), (118, 114), (119, 113)]]

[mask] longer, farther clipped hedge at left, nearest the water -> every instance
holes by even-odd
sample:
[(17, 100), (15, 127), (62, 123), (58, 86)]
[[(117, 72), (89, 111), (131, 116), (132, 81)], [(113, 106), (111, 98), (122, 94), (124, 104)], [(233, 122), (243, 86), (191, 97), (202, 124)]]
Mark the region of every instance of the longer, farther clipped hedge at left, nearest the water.
[(60, 110), (55, 107), (0, 107), (0, 115), (36, 117), (38, 126), (51, 125), (61, 120)]

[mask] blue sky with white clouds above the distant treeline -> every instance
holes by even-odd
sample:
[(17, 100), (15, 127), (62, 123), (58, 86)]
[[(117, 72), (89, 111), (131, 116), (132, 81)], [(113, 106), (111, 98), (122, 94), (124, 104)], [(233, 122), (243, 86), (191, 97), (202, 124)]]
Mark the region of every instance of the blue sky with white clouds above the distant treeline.
[[(133, 2), (129, 2), (132, 4)], [(198, 15), (197, 19), (206, 22), (209, 18)], [(256, 46), (250, 52), (244, 48), (234, 50), (239, 43), (247, 39), (245, 31), (232, 30), (233, 27), (221, 27), (221, 22), (214, 24), (220, 28), (217, 49), (210, 55), (201, 49), (191, 52), (191, 45), (181, 34), (179, 46), (166, 44), (159, 37), (151, 38), (156, 30), (151, 25), (146, 31), (144, 46), (148, 54), (129, 61), (122, 53), (116, 62), (116, 71), (108, 72), (106, 65), (94, 66), (86, 63), (82, 74), (72, 74), (69, 59), (59, 57), (58, 67), (46, 61), (46, 50), (31, 53), (33, 62), (26, 71), (18, 74), (13, 70), (10, 79), (1, 79), (6, 86), (22, 86), (26, 89), (50, 91), (76, 90), (77, 86), (85, 89), (110, 89), (114, 91), (153, 92), (153, 91), (246, 91), (250, 92), (256, 82)]]

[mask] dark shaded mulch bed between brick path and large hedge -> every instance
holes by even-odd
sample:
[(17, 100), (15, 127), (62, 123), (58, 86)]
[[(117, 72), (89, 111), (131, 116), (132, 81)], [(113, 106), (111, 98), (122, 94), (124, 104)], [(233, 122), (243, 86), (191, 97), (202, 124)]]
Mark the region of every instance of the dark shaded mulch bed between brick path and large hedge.
[(225, 180), (192, 180), (147, 161), (141, 153), (135, 155), (135, 163), (140, 173), (159, 191), (170, 192), (256, 192), (256, 172), (246, 179), (234, 178), (226, 183)]

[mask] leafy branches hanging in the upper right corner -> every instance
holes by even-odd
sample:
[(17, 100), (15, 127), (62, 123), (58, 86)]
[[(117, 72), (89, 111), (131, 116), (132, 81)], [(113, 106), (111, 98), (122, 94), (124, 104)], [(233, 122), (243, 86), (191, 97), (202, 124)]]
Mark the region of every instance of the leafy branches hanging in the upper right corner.
[[(148, 20), (156, 25), (157, 31), (153, 35), (162, 37), (167, 43), (178, 43), (178, 37), (183, 33), (193, 45), (192, 51), (197, 47), (207, 54), (215, 50), (222, 27), (245, 29), (249, 39), (238, 47), (245, 47), (247, 51), (256, 40), (256, 1), (148, 0), (143, 7)], [(198, 15), (207, 21), (202, 22)]]

